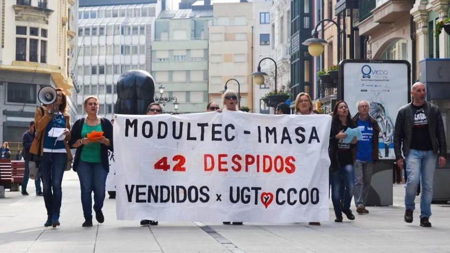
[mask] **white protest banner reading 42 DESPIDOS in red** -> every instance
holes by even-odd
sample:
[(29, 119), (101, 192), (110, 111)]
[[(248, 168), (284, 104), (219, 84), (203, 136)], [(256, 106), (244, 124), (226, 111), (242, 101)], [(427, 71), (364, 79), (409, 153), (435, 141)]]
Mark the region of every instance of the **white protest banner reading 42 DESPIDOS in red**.
[(117, 115), (117, 218), (328, 220), (327, 115)]

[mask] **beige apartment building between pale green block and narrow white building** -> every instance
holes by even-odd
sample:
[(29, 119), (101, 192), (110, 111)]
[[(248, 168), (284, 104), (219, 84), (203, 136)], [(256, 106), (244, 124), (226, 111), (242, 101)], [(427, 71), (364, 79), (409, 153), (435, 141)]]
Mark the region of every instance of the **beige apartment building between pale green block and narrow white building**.
[[(209, 101), (222, 107), (221, 91), (234, 78), (240, 84), (240, 105), (252, 107), (252, 3), (214, 3), (213, 18), (209, 22)], [(230, 81), (228, 88), (239, 90), (236, 81)]]

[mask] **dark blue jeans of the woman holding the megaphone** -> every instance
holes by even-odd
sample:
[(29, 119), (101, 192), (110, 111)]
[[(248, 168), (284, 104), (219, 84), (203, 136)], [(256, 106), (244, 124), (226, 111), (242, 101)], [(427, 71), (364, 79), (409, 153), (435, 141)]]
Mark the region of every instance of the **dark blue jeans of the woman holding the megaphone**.
[(40, 162), (39, 173), (42, 178), (44, 201), (46, 203), (47, 215), (59, 218), (61, 209), (61, 182), (67, 163), (66, 153), (44, 152)]

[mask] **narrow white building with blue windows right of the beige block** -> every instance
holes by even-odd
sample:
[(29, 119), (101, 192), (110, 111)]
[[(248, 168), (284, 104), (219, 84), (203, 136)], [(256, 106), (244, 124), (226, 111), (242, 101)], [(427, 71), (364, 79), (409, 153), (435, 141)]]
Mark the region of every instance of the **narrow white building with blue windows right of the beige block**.
[[(271, 7), (272, 1), (254, 0), (253, 1), (253, 66), (256, 71), (258, 62), (264, 57), (271, 57)], [(270, 60), (261, 62), (261, 68), (268, 69), (273, 64)], [(272, 77), (273, 78), (273, 77)], [(269, 113), (269, 107), (262, 101), (262, 97), (270, 91), (271, 78), (264, 79), (264, 85), (253, 84), (253, 112)]]

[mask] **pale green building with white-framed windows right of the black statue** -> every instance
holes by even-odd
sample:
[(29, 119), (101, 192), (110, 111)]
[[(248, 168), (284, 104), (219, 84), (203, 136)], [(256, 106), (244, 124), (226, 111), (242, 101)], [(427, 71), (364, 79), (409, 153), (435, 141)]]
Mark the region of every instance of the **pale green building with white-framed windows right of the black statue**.
[[(163, 96), (176, 98), (180, 113), (205, 111), (209, 100), (209, 7), (166, 10), (155, 21), (151, 74), (156, 87), (165, 87)], [(174, 111), (172, 102), (166, 103), (165, 111)]]

